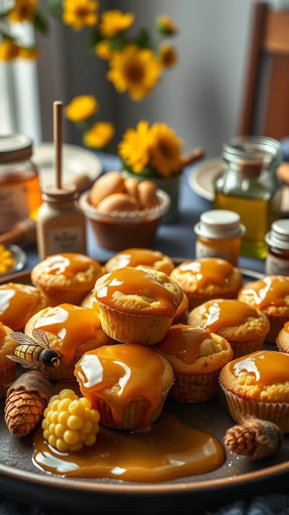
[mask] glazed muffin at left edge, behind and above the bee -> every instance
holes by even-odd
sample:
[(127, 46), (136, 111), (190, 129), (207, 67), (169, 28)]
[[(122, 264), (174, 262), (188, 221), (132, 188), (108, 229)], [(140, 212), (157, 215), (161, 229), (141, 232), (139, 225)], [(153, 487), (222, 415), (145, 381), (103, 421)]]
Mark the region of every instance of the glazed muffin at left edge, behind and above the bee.
[(12, 331), (22, 331), (29, 318), (47, 306), (41, 291), (27, 284), (0, 286), (0, 322)]

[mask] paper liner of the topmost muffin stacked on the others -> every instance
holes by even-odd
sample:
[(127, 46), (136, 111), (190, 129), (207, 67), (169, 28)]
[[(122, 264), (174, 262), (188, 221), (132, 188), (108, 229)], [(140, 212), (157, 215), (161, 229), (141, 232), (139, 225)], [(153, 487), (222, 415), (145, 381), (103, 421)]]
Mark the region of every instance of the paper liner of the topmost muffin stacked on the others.
[(172, 318), (150, 315), (131, 315), (115, 310), (101, 302), (99, 313), (104, 333), (124, 344), (137, 342), (153, 345), (165, 337), (171, 327)]

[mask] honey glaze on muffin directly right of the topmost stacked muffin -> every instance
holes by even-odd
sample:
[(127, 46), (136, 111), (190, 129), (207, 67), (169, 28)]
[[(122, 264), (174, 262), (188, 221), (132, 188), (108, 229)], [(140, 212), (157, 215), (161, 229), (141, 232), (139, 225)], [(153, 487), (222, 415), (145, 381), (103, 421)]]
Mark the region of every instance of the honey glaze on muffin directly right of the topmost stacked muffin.
[(200, 311), (204, 327), (212, 333), (216, 333), (224, 327), (242, 325), (250, 317), (258, 317), (254, 306), (239, 300), (218, 299), (206, 302)]

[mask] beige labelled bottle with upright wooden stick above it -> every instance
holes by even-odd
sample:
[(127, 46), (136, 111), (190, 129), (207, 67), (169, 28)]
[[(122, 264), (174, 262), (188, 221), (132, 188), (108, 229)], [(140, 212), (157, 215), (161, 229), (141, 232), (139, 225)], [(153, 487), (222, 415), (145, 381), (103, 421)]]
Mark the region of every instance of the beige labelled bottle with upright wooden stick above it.
[(37, 219), (40, 259), (62, 252), (86, 254), (85, 216), (76, 201), (76, 186), (46, 188), (42, 198)]

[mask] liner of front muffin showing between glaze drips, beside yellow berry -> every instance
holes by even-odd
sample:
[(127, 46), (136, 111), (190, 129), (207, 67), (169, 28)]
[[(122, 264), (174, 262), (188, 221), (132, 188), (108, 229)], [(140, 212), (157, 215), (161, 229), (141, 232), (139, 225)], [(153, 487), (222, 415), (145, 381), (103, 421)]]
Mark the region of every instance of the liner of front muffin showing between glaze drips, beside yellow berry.
[[(154, 411), (151, 423), (154, 422), (161, 414), (168, 392), (169, 388), (162, 392), (160, 406)], [(148, 409), (148, 404), (149, 402), (147, 399), (130, 402), (124, 410), (122, 421), (120, 423), (116, 423), (109, 404), (97, 397), (95, 397), (95, 402), (92, 403), (93, 407), (99, 412), (100, 423), (106, 427), (112, 427), (114, 429), (133, 429), (137, 427), (141, 420), (143, 411)]]

